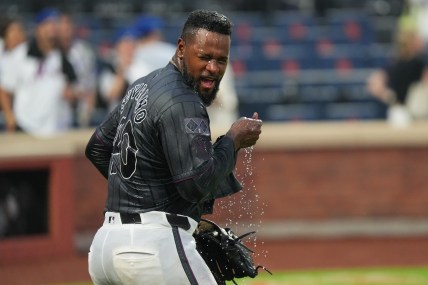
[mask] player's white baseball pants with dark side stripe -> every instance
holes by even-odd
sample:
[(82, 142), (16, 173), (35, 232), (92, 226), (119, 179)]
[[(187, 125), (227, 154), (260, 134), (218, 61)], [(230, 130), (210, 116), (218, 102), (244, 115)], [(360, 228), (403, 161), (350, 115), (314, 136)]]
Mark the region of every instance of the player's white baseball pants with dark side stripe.
[[(136, 214), (138, 215), (138, 214)], [(192, 236), (197, 222), (178, 227), (164, 212), (139, 214), (122, 222), (107, 212), (89, 251), (89, 274), (95, 285), (209, 285), (217, 284), (196, 250)], [(177, 217), (177, 215), (175, 215)], [(185, 221), (185, 220), (184, 220)]]

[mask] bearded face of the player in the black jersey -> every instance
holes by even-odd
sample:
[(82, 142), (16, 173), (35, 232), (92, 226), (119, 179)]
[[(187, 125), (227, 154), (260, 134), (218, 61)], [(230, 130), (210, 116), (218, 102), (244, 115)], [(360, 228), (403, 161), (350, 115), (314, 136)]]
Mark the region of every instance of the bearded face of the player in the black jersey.
[(216, 97), (226, 71), (230, 36), (200, 29), (186, 41), (180, 39), (178, 49), (186, 83), (209, 106)]

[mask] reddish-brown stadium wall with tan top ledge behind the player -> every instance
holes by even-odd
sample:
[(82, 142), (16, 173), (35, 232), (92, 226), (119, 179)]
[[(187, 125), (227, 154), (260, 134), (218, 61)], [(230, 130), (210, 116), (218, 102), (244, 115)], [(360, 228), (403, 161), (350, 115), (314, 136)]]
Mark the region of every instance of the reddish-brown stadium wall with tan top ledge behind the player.
[[(274, 268), (427, 264), (427, 130), (426, 123), (265, 124), (259, 143), (240, 153), (244, 192), (219, 201), (210, 218), (257, 230), (249, 245)], [(215, 139), (225, 129), (212, 131)], [(0, 262), (39, 258), (52, 241), (61, 246), (49, 256), (87, 250), (106, 197), (106, 182), (83, 155), (91, 133), (0, 135), (2, 173), (50, 173), (48, 230), (1, 237)]]

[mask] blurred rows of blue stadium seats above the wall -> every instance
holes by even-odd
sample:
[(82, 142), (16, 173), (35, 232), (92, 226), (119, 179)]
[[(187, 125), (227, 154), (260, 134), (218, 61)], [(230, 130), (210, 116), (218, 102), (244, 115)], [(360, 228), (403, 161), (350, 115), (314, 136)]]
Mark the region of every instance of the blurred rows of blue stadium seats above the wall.
[[(314, 2), (314, 3), (312, 3)], [(321, 3), (321, 4), (319, 4)], [(2, 1), (31, 32), (33, 14), (50, 5), (73, 14), (78, 35), (102, 57), (119, 27), (141, 13), (161, 16), (175, 43), (186, 12), (224, 11), (235, 24), (231, 64), (241, 114), (257, 106), (267, 121), (368, 120), (386, 108), (367, 94), (370, 70), (392, 56), (402, 1)], [(102, 109), (100, 109), (102, 111)], [(103, 114), (101, 114), (102, 116)], [(99, 118), (99, 117), (98, 117)], [(95, 119), (94, 124), (98, 122)]]

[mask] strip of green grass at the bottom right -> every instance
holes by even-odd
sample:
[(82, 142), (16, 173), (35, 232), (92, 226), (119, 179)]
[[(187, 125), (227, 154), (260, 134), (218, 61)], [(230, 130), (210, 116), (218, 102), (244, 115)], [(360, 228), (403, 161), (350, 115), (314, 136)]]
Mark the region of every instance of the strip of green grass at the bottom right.
[[(239, 285), (427, 285), (428, 266), (412, 268), (335, 269), (260, 273), (255, 279), (236, 280)], [(227, 285), (233, 284), (228, 282)], [(91, 285), (67, 283), (54, 285)]]

